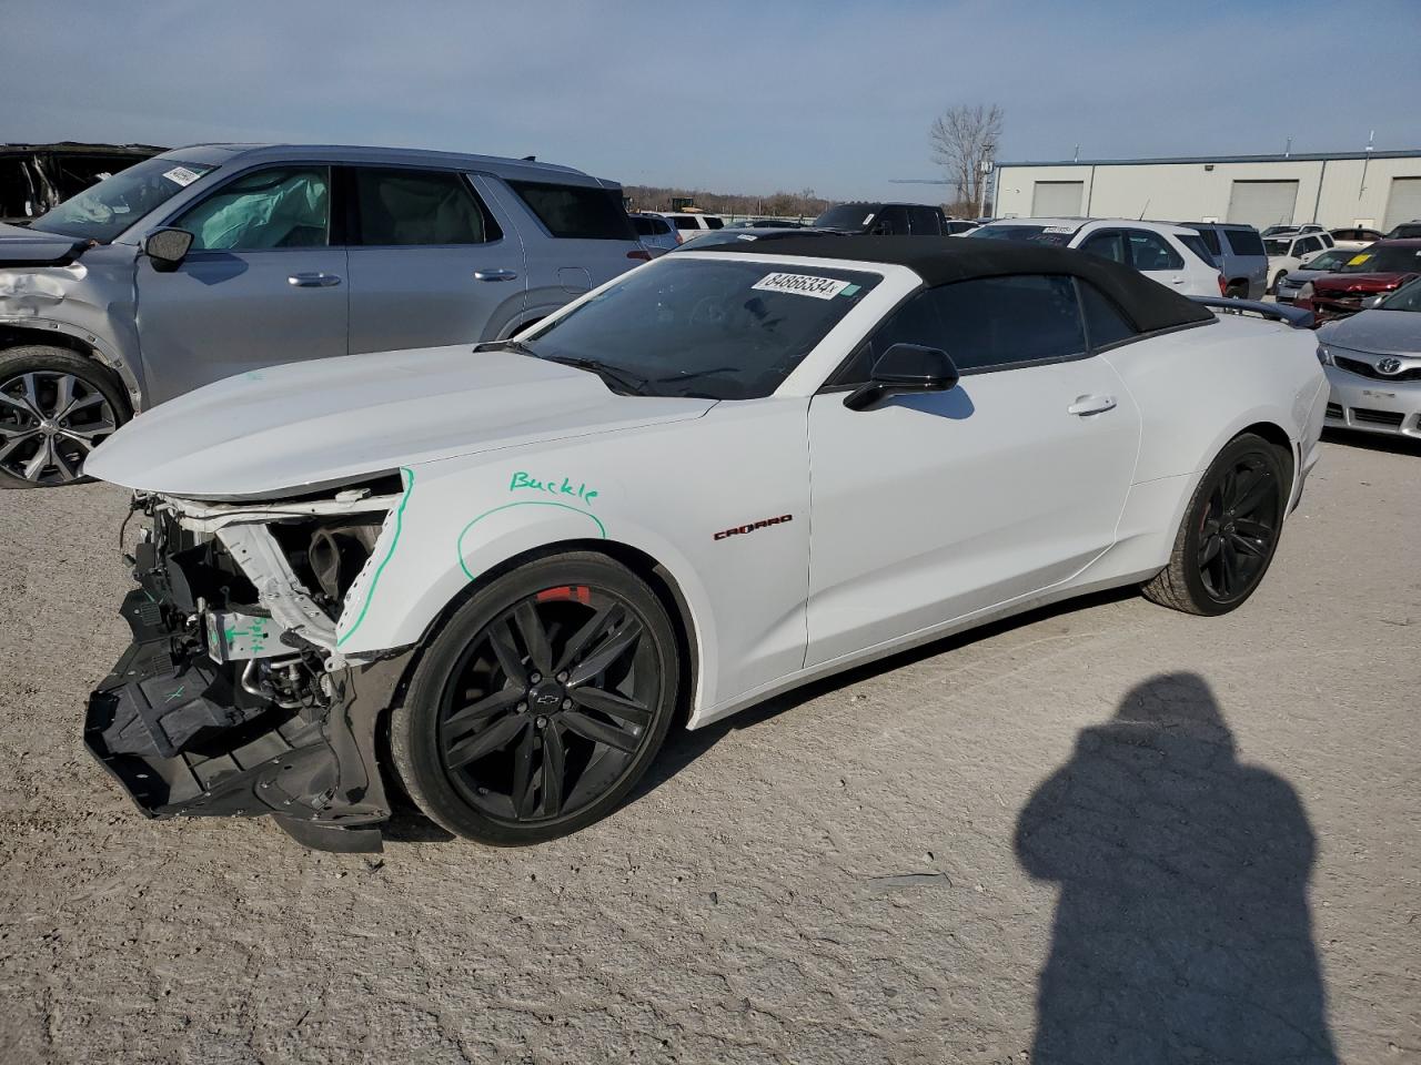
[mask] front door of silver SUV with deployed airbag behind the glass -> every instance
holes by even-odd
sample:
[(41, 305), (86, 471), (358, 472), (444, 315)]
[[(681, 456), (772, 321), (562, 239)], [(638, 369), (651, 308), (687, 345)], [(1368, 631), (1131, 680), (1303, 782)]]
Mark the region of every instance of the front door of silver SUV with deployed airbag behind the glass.
[(247, 170), (168, 224), (193, 243), (173, 271), (138, 257), (149, 402), (279, 362), (345, 354), (345, 247), (328, 166)]

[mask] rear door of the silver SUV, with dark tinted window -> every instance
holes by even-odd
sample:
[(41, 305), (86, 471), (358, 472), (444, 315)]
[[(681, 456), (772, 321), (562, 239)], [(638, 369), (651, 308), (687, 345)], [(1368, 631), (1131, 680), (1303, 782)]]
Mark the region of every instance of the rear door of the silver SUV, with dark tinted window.
[(524, 250), (456, 170), (352, 166), (351, 354), (476, 344), (523, 315)]

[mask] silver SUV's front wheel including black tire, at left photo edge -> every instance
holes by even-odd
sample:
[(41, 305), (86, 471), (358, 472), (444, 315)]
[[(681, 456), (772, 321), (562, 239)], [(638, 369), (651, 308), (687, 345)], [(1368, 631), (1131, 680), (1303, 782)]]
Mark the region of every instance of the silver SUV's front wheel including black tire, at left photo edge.
[(118, 379), (68, 348), (0, 351), (0, 488), (84, 480), (84, 459), (128, 420)]

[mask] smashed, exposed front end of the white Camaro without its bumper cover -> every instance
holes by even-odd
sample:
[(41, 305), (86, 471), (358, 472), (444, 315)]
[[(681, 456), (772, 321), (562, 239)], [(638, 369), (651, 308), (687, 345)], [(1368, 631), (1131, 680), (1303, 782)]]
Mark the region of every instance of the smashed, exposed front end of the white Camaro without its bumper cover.
[(335, 629), (399, 488), (135, 497), (134, 643), (90, 696), (84, 740), (146, 815), (270, 814), (307, 846), (379, 849), (375, 728), (412, 649), (347, 657)]

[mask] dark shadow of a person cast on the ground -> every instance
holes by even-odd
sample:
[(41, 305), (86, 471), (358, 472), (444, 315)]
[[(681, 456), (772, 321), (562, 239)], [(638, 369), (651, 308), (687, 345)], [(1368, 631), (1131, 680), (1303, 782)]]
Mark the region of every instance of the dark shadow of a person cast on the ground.
[(1208, 684), (1140, 684), (1016, 822), (1060, 885), (1033, 1065), (1336, 1064), (1312, 940), (1313, 834), (1241, 764)]

